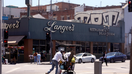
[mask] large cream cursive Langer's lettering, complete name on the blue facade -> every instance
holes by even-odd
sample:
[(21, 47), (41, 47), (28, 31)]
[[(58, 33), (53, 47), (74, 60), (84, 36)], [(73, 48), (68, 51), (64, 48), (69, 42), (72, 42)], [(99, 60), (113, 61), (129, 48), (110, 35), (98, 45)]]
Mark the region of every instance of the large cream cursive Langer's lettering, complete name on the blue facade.
[(56, 32), (57, 30), (60, 31), (60, 33), (64, 33), (65, 31), (74, 31), (75, 25), (71, 24), (71, 26), (60, 26), (56, 25), (57, 22), (48, 22), (48, 27), (44, 28), (44, 31), (51, 31), (51, 32)]

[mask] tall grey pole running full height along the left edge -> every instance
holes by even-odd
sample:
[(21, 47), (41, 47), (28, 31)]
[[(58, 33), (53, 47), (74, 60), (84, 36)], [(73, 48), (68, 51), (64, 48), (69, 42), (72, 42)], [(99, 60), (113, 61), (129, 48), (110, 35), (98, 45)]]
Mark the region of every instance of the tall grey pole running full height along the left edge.
[(2, 0), (0, 0), (0, 74), (2, 74)]

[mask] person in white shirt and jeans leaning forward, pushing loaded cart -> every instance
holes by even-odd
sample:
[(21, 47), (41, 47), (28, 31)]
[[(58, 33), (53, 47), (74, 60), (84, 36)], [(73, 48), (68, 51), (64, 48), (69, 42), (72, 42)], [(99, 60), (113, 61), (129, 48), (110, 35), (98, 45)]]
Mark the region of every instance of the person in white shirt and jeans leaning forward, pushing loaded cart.
[(52, 59), (52, 68), (45, 74), (49, 74), (52, 70), (54, 70), (54, 67), (56, 67), (55, 74), (58, 72), (58, 62), (61, 60), (64, 62), (64, 59), (62, 58), (62, 55), (64, 53), (64, 48), (60, 48), (60, 51), (56, 52)]

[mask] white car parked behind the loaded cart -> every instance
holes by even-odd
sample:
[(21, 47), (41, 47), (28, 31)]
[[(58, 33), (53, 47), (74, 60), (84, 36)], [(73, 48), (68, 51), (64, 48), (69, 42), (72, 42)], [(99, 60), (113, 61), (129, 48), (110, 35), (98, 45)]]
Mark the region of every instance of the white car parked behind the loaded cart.
[(91, 53), (78, 53), (75, 55), (75, 62), (84, 63), (84, 62), (94, 62), (96, 60), (95, 55)]

